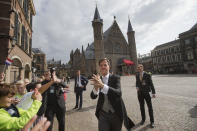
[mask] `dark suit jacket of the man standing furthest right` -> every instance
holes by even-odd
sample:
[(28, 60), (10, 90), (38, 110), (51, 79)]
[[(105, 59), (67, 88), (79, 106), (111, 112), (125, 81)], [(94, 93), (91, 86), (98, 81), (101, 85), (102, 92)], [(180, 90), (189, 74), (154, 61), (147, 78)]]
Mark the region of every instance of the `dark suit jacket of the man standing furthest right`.
[(139, 72), (136, 74), (136, 87), (139, 88), (139, 91), (143, 91), (143, 92), (152, 91), (152, 94), (155, 94), (155, 88), (152, 82), (151, 75), (148, 74), (147, 72), (144, 72), (142, 81), (140, 80)]

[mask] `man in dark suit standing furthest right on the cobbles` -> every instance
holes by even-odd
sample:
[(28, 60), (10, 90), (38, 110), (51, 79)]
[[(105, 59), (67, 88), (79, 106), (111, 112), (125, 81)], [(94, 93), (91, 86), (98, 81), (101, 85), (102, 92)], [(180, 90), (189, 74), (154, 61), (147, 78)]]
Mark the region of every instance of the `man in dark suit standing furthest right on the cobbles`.
[(140, 124), (143, 125), (146, 120), (144, 109), (145, 100), (149, 111), (150, 127), (154, 128), (153, 108), (149, 92), (152, 92), (152, 97), (155, 98), (155, 88), (152, 82), (151, 75), (144, 71), (144, 67), (142, 64), (139, 64), (137, 66), (137, 71), (138, 72), (136, 74), (136, 89), (142, 116), (142, 121), (140, 122)]

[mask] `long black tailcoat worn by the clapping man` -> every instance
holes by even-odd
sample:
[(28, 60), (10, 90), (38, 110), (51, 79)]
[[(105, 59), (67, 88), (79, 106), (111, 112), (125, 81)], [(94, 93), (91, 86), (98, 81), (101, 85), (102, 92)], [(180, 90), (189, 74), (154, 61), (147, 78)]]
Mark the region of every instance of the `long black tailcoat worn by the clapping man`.
[[(130, 129), (134, 126), (134, 123), (128, 118), (126, 108), (124, 102), (122, 100), (122, 92), (120, 87), (120, 76), (118, 75), (109, 75), (108, 80), (108, 99), (115, 110), (115, 113), (119, 116), (120, 120), (124, 120), (125, 127)], [(92, 99), (96, 99), (98, 95), (95, 95), (92, 91), (90, 94)], [(95, 115), (99, 118), (99, 112), (101, 111), (104, 103), (104, 94), (102, 92), (99, 93), (99, 99), (97, 102), (96, 113)]]

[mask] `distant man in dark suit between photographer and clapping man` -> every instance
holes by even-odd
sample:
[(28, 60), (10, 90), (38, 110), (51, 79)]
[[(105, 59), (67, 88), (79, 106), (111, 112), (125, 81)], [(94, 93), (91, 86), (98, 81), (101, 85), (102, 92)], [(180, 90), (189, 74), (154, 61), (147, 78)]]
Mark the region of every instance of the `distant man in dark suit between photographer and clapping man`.
[[(77, 70), (77, 75), (75, 77), (75, 87), (74, 92), (76, 95), (76, 104), (73, 109), (81, 110), (83, 105), (83, 91), (86, 90), (86, 85), (88, 84), (88, 79), (80, 74), (80, 70)], [(79, 104), (80, 99), (80, 104)]]

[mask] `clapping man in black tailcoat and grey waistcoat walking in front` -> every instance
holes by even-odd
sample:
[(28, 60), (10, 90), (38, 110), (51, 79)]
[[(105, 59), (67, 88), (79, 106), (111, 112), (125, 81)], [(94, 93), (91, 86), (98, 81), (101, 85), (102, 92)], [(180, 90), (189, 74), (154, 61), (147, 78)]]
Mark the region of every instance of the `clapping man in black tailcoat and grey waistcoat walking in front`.
[(125, 127), (130, 130), (134, 123), (128, 118), (124, 102), (121, 98), (120, 76), (109, 73), (107, 58), (99, 61), (101, 76), (93, 75), (91, 81), (94, 88), (91, 98), (99, 96), (96, 116), (99, 131), (121, 131), (124, 120)]

